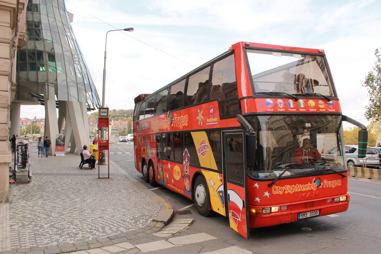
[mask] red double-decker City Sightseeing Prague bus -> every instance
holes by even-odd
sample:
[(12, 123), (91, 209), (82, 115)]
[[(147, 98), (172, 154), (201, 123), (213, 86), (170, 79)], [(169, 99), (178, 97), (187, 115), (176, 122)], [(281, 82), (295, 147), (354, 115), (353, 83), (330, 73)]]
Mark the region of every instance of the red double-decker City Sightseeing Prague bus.
[(323, 50), (239, 42), (135, 98), (135, 167), (249, 238), (348, 209), (343, 121), (362, 128), (366, 151), (366, 127), (342, 115)]

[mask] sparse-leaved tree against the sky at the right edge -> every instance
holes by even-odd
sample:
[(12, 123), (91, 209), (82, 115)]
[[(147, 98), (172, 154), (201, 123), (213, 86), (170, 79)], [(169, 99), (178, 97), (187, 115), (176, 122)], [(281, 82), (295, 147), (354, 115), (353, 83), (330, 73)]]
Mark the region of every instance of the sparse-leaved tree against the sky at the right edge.
[(379, 49), (376, 49), (375, 55), (377, 61), (362, 85), (367, 87), (369, 96), (369, 105), (366, 106), (365, 117), (368, 120), (379, 121), (381, 119), (381, 55)]

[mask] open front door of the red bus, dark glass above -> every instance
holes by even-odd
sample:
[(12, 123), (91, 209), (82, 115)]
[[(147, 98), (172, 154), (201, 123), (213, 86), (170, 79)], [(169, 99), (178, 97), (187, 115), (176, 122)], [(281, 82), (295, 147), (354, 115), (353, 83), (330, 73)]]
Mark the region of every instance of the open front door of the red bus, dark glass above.
[(230, 227), (249, 239), (247, 176), (244, 157), (244, 132), (223, 132), (224, 185), (226, 214)]

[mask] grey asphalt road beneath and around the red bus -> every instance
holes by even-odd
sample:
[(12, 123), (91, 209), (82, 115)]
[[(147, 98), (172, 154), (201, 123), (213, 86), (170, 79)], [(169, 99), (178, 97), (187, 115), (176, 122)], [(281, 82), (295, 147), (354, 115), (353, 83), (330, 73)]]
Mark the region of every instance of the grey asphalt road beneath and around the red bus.
[[(249, 240), (229, 227), (226, 217), (202, 217), (193, 202), (164, 187), (152, 188), (136, 171), (132, 142), (110, 145), (110, 159), (138, 179), (148, 189), (169, 201), (175, 211), (175, 220), (192, 218), (194, 223), (178, 236), (204, 232), (217, 239), (186, 247), (176, 247), (155, 253), (207, 253), (229, 247), (239, 247), (255, 254), (358, 254), (380, 253), (381, 250), (381, 182), (349, 179), (351, 201), (348, 211), (302, 220), (290, 224), (251, 230)], [(185, 213), (185, 214), (183, 214)], [(219, 253), (223, 253), (219, 251)], [(241, 253), (241, 252), (237, 252)]]

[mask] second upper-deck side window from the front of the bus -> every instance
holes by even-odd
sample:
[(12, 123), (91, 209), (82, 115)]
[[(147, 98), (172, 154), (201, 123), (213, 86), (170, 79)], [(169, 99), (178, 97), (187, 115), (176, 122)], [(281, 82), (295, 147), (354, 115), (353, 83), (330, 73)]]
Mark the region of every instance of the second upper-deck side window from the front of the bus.
[(208, 99), (210, 66), (189, 77), (185, 106), (193, 105)]

